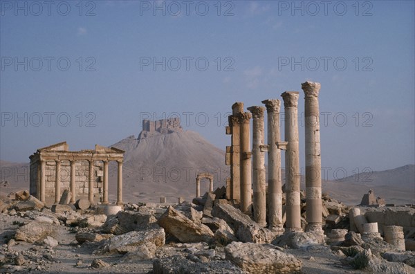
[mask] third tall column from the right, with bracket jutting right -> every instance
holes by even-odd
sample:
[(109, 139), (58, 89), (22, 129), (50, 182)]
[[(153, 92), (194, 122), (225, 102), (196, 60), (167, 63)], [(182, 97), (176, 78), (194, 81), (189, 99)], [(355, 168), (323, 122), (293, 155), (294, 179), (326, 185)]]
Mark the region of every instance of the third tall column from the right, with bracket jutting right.
[(282, 234), (284, 222), (282, 221), (281, 152), (277, 147), (277, 143), (281, 141), (280, 101), (269, 99), (262, 102), (266, 106), (268, 122), (268, 227)]

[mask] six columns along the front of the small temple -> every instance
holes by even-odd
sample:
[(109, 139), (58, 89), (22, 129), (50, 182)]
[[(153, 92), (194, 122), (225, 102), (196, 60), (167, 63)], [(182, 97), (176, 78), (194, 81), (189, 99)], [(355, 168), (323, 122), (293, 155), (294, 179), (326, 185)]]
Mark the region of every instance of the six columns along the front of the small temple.
[[(76, 182), (75, 182), (75, 163), (76, 161), (69, 161), (71, 167), (71, 181), (69, 184), (69, 190), (71, 191), (71, 203), (76, 201)], [(102, 185), (102, 203), (107, 204), (108, 201), (108, 164), (109, 161), (104, 162), (104, 182)], [(56, 169), (55, 169), (55, 203), (59, 203), (61, 195), (61, 183), (60, 183), (60, 170), (61, 170), (61, 161), (55, 160)], [(93, 163), (94, 161), (89, 160), (89, 181), (88, 181), (88, 199), (93, 203)], [(117, 178), (117, 205), (122, 205), (122, 163), (123, 161), (117, 161), (118, 163), (118, 178)], [(45, 196), (45, 184), (46, 184), (46, 161), (40, 161), (40, 194), (39, 199), (42, 202), (46, 201)]]

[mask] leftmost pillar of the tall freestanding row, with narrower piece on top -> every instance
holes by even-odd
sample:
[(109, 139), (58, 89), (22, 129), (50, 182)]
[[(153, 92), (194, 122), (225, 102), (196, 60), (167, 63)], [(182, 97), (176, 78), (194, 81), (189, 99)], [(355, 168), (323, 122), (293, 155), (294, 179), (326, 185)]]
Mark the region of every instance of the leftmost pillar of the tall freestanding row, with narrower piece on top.
[(232, 115), (228, 117), (231, 147), (230, 147), (230, 199), (241, 200), (241, 167), (240, 167), (240, 127), (238, 113), (243, 112), (243, 102), (232, 105)]

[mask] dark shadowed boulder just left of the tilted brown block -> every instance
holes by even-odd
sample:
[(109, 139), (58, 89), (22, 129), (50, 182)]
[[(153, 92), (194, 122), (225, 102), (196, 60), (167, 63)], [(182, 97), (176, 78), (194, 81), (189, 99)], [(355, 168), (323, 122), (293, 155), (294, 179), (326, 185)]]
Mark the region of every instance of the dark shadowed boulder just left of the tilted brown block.
[(157, 219), (151, 214), (120, 211), (114, 217), (109, 217), (102, 226), (102, 232), (121, 235), (130, 231), (158, 228)]

